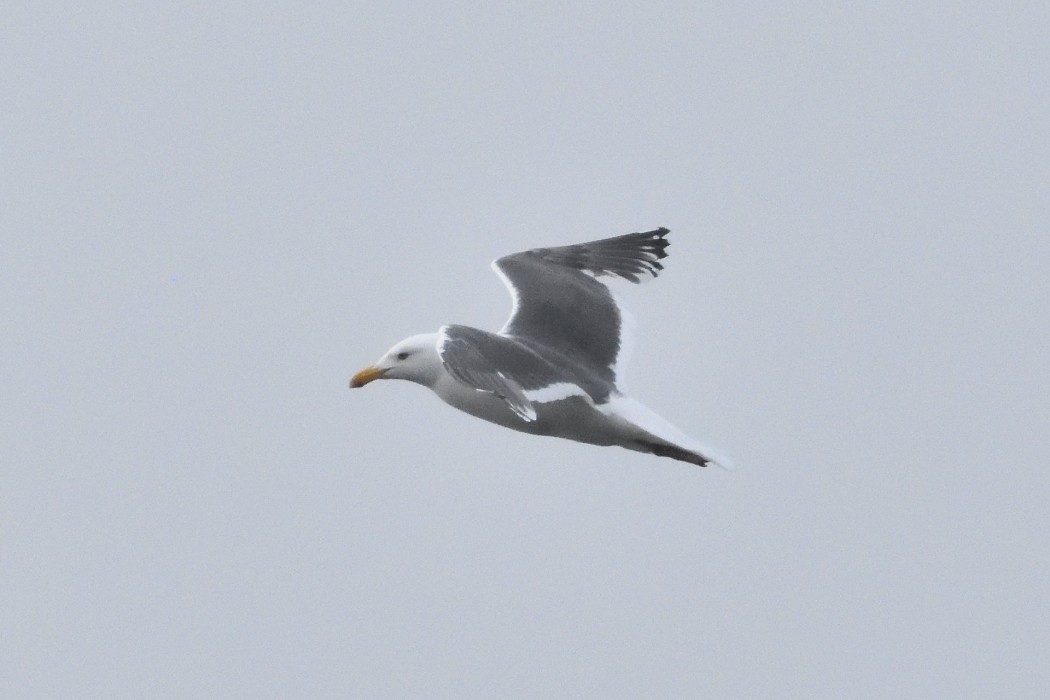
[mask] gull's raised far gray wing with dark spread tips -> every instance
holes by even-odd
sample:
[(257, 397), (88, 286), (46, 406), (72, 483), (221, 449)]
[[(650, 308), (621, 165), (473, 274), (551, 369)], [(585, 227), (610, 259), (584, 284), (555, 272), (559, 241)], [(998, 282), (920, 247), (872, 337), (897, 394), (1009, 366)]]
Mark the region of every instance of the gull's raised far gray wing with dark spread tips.
[(502, 335), (550, 348), (614, 384), (623, 316), (604, 276), (631, 282), (655, 277), (670, 241), (667, 229), (538, 248), (501, 257), (494, 267), (514, 300)]

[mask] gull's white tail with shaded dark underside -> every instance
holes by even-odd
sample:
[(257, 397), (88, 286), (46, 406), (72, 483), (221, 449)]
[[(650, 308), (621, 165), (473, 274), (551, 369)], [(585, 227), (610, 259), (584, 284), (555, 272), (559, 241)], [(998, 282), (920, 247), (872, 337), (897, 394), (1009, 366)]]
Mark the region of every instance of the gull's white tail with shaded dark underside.
[(627, 424), (623, 447), (650, 452), (657, 457), (669, 457), (701, 467), (717, 464), (723, 469), (733, 468), (733, 462), (729, 457), (693, 440), (634, 399), (616, 397), (597, 408), (610, 418), (620, 419)]

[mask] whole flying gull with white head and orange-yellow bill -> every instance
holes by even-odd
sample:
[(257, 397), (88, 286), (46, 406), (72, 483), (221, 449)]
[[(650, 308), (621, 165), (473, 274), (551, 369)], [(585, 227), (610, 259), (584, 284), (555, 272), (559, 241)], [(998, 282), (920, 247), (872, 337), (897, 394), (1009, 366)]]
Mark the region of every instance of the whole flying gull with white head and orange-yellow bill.
[(405, 379), (455, 408), (522, 432), (728, 468), (726, 457), (624, 389), (632, 318), (607, 281), (655, 277), (664, 269), (668, 233), (656, 229), (501, 257), (492, 269), (513, 309), (499, 332), (443, 325), (405, 338), (354, 375), (350, 386)]

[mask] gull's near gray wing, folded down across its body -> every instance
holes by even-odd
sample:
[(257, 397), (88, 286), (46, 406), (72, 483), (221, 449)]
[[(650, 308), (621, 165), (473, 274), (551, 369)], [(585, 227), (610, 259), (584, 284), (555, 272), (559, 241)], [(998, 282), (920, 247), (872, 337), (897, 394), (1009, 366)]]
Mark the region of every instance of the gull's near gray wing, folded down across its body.
[(503, 399), (522, 420), (536, 420), (527, 390), (565, 381), (556, 366), (511, 338), (466, 325), (445, 325), (438, 333), (438, 355), (448, 374)]

